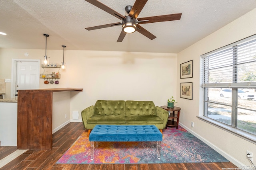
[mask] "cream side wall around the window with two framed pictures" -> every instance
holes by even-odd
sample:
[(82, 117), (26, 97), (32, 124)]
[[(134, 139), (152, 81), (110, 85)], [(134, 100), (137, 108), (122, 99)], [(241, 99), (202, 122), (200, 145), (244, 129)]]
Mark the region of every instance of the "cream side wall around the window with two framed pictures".
[[(236, 166), (241, 164), (250, 165), (246, 158), (246, 150), (255, 154), (256, 146), (196, 117), (203, 114), (202, 88), (200, 88), (200, 55), (256, 34), (255, 18), (256, 9), (178, 53), (177, 65), (193, 60), (193, 78), (180, 79), (179, 67), (177, 68), (178, 84), (180, 82), (193, 82), (193, 100), (178, 98), (178, 104), (182, 108), (180, 123), (222, 152)], [(177, 96), (178, 93), (179, 86), (177, 87)], [(194, 122), (193, 128), (190, 127), (191, 121)], [(256, 164), (256, 159), (254, 159), (254, 164)]]

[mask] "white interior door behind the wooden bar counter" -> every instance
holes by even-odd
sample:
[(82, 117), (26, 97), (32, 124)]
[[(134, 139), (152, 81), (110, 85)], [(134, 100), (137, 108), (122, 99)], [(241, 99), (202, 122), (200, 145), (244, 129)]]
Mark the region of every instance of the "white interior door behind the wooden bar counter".
[(17, 90), (39, 88), (39, 67), (38, 61), (16, 61), (16, 83)]

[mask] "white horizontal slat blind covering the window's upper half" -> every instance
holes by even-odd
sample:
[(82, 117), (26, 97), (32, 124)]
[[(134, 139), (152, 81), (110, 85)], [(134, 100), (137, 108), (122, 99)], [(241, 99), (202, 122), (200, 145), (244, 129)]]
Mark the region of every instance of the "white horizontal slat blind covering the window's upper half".
[(201, 57), (203, 87), (256, 88), (256, 35)]

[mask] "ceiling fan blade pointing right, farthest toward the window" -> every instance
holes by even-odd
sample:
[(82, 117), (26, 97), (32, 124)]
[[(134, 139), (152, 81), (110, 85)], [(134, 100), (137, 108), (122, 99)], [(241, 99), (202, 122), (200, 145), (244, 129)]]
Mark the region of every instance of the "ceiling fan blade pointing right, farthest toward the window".
[[(169, 15), (163, 15), (163, 16), (153, 16), (153, 17), (144, 17), (144, 18), (138, 18), (139, 24), (142, 23), (153, 23), (153, 22), (163, 22), (163, 21), (174, 21), (174, 20), (180, 20), (181, 14), (169, 14)], [(148, 21), (144, 21), (148, 20)]]

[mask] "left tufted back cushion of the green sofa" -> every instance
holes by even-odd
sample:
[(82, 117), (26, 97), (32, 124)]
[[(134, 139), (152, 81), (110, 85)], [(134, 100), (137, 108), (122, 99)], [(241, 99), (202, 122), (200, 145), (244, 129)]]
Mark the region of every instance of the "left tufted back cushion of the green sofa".
[(125, 115), (124, 100), (97, 100), (94, 105), (95, 115)]

